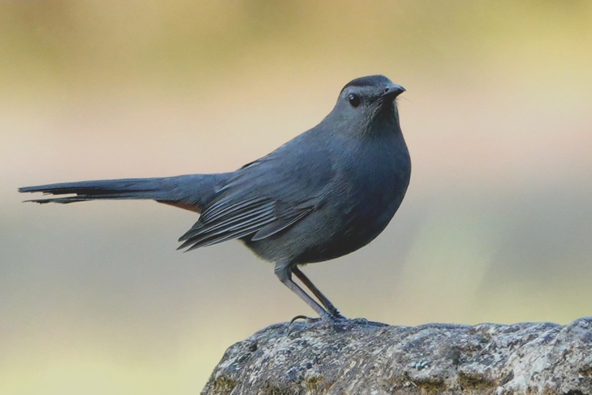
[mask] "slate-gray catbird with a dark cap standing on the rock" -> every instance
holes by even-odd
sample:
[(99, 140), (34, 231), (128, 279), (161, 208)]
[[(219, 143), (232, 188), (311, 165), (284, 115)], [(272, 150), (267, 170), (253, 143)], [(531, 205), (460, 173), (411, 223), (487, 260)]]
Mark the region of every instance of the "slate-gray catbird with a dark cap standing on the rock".
[[(321, 318), (340, 318), (298, 268), (337, 258), (382, 232), (407, 190), (411, 161), (395, 98), (404, 92), (384, 76), (355, 79), (316, 127), (230, 173), (98, 180), (20, 188), (72, 203), (94, 199), (152, 199), (201, 213), (179, 238), (194, 250), (240, 239), (275, 263), (275, 274)], [(292, 273), (324, 306), (292, 280)]]

